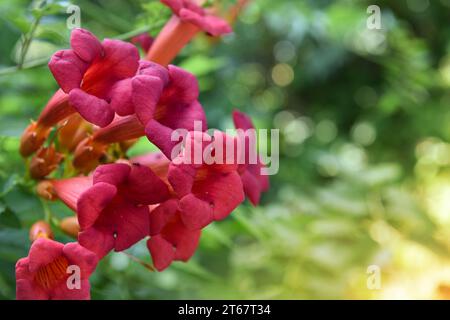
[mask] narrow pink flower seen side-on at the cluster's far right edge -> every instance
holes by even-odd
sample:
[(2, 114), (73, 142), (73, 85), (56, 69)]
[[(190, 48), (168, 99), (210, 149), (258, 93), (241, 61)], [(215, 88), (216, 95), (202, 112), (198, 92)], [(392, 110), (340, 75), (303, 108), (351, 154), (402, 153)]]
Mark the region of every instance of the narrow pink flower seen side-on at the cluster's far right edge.
[[(236, 129), (255, 129), (250, 117), (237, 110), (233, 111), (233, 122)], [(256, 137), (252, 137), (252, 139), (256, 140)], [(264, 168), (264, 164), (261, 162), (261, 158), (257, 154), (255, 155), (256, 149), (249, 149), (251, 147), (249, 140), (245, 143), (245, 163), (239, 167), (238, 171), (241, 175), (245, 195), (256, 206), (259, 203), (261, 193), (269, 189), (269, 177), (261, 174), (261, 169)], [(249, 161), (251, 153), (254, 155), (255, 163)]]

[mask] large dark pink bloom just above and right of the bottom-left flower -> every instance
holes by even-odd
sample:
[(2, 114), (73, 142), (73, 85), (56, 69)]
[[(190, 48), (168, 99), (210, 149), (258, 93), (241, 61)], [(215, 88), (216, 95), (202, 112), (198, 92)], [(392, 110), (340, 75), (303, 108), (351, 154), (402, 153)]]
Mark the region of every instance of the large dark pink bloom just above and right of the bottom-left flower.
[(93, 185), (77, 201), (78, 241), (102, 258), (148, 235), (148, 205), (165, 201), (166, 184), (149, 168), (124, 163), (97, 167)]

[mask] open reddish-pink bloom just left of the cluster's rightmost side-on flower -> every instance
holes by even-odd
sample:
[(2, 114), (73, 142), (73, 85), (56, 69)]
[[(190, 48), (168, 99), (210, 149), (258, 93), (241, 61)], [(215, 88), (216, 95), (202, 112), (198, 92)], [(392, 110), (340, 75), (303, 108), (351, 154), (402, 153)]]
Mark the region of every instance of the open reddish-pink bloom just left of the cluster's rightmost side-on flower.
[[(244, 201), (237, 152), (231, 155), (225, 147), (232, 141), (220, 131), (212, 137), (190, 133), (185, 149), (169, 166), (168, 181), (180, 199), (181, 220), (189, 229), (226, 218)], [(196, 159), (199, 150), (200, 162)]]

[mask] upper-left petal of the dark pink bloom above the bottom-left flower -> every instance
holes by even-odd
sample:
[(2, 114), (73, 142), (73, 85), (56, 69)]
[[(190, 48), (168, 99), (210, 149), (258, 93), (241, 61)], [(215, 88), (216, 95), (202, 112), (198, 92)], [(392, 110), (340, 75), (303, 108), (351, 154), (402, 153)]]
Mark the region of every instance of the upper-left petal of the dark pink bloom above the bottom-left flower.
[(98, 182), (83, 192), (77, 203), (80, 230), (84, 231), (94, 225), (116, 194), (116, 187), (105, 182)]

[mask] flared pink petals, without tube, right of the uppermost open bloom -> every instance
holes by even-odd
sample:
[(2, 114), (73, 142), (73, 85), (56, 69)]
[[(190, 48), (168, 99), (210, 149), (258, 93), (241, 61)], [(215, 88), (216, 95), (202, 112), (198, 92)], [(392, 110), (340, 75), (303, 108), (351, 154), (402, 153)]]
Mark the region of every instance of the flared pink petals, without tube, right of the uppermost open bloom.
[[(148, 139), (170, 158), (178, 144), (171, 139), (175, 129), (192, 131), (198, 121), (201, 130), (206, 130), (205, 112), (197, 100), (197, 79), (179, 67), (170, 65), (166, 70), (152, 62), (143, 62), (140, 72), (142, 75), (132, 83), (136, 116), (145, 126)], [(158, 77), (153, 76), (156, 73)], [(155, 88), (160, 79), (163, 87), (158, 92)]]

